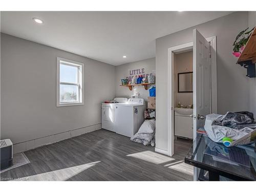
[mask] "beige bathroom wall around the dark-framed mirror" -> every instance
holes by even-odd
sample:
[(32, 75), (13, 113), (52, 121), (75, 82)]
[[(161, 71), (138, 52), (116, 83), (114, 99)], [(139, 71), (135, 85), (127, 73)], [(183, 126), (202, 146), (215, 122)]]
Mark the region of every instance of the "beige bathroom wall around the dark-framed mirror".
[(178, 102), (184, 105), (193, 104), (193, 93), (178, 93), (178, 73), (184, 72), (193, 72), (193, 51), (174, 56), (174, 106), (177, 106)]

